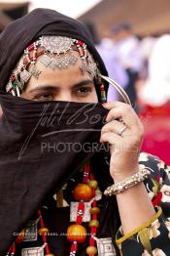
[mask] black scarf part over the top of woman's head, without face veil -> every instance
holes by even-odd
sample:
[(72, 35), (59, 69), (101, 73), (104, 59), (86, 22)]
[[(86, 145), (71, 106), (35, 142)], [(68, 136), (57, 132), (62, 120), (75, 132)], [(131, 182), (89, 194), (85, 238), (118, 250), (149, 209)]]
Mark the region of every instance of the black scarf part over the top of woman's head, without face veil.
[(58, 35), (85, 42), (100, 71), (107, 75), (101, 57), (94, 47), (85, 24), (53, 10), (35, 9), (30, 14), (12, 22), (0, 35), (0, 89), (5, 89), (9, 75), (23, 50), (41, 35)]

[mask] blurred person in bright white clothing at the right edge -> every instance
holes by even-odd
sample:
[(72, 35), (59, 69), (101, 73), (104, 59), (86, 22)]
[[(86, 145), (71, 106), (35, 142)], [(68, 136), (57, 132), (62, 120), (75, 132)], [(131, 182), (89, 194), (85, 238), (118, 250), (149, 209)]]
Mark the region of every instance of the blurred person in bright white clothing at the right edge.
[(141, 99), (153, 107), (170, 101), (170, 35), (162, 35), (154, 44), (149, 57), (148, 79)]

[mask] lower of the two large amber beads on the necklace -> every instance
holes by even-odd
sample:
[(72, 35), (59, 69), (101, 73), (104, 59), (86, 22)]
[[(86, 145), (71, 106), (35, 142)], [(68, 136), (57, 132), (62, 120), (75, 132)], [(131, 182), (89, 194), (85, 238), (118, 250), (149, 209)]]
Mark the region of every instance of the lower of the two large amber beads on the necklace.
[(71, 242), (77, 241), (78, 243), (85, 242), (86, 230), (85, 227), (78, 224), (70, 225), (67, 230), (67, 239)]

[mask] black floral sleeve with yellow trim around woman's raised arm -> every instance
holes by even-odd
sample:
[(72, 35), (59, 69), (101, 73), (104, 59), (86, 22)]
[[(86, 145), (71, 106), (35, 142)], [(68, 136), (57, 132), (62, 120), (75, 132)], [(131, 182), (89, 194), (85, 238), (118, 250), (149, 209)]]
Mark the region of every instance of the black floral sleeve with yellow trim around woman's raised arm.
[(151, 171), (145, 181), (156, 213), (135, 231), (117, 234), (117, 245), (123, 256), (170, 256), (170, 168), (159, 158), (141, 152), (139, 163)]

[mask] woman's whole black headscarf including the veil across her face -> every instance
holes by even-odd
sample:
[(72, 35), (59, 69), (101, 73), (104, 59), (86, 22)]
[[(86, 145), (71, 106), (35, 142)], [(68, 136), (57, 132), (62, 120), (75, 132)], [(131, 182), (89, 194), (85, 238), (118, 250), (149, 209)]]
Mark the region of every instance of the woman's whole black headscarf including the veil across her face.
[[(100, 104), (38, 103), (5, 93), (9, 76), (23, 50), (41, 35), (60, 35), (85, 42), (102, 74), (106, 68), (83, 23), (52, 10), (37, 9), (12, 22), (0, 36), (0, 255), (3, 255), (48, 193), (78, 171), (97, 149), (107, 110)], [(63, 149), (77, 143), (79, 149)], [(60, 148), (54, 149), (60, 144)], [(53, 147), (53, 148), (46, 148)], [(102, 151), (102, 150), (99, 150)], [(97, 158), (99, 172), (108, 167)], [(98, 177), (99, 173), (96, 174)], [(110, 182), (109, 172), (105, 180)], [(107, 182), (108, 181), (108, 182)], [(104, 183), (103, 189), (105, 189)]]

